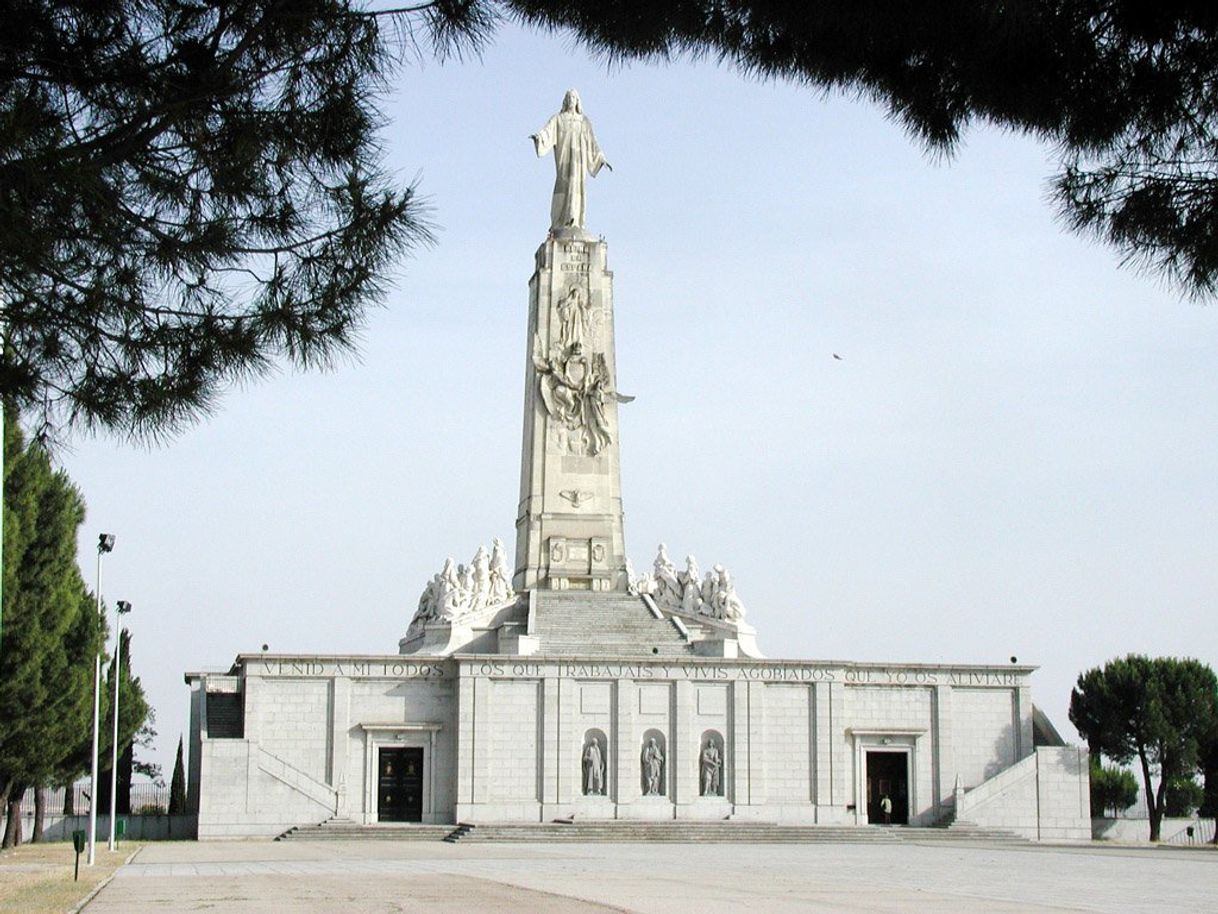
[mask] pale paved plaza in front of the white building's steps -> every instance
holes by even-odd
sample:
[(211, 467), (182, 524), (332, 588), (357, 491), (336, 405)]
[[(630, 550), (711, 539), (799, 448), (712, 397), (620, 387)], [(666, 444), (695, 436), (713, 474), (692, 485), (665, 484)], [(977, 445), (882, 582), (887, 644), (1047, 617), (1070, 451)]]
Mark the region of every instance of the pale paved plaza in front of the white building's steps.
[(146, 846), (84, 914), (1200, 914), (1218, 852), (960, 845)]

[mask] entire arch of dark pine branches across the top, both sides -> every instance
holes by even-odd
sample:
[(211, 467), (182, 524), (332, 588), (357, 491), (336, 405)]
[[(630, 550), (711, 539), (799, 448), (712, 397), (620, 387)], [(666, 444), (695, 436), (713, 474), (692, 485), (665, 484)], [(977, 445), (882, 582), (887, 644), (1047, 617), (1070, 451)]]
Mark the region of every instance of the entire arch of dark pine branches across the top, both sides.
[(157, 435), (350, 351), (429, 238), (379, 167), (395, 54), (502, 19), (856, 94), (932, 150), (1029, 133), (1069, 225), (1216, 291), (1212, 0), (0, 0), (0, 395)]

